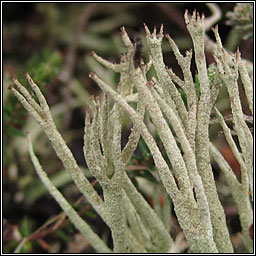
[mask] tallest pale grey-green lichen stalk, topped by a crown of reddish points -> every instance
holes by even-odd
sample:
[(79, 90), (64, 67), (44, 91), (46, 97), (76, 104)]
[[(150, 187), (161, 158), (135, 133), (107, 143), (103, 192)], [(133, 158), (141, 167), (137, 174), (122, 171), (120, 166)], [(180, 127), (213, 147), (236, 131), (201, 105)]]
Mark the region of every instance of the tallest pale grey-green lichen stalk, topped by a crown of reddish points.
[(198, 172), (203, 180), (206, 196), (211, 212), (211, 220), (214, 231), (214, 240), (220, 252), (232, 251), (232, 244), (226, 225), (224, 210), (218, 199), (215, 187), (209, 154), (209, 121), (211, 113), (210, 83), (207, 74), (207, 65), (204, 54), (204, 16), (201, 18), (196, 12), (191, 18), (185, 13), (185, 22), (191, 34), (195, 61), (200, 81), (200, 100), (198, 102), (197, 129), (196, 129), (196, 159)]

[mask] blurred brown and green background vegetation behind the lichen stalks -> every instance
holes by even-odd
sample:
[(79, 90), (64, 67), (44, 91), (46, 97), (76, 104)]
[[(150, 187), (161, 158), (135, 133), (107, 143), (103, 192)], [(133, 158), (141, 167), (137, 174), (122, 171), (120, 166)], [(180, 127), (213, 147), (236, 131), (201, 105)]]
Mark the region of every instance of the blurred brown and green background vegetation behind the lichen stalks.
[[(235, 3), (218, 3), (221, 19), (219, 32), (226, 49), (234, 52), (239, 45), (242, 57), (253, 60), (252, 34), (239, 29), (239, 19), (234, 16)], [(71, 148), (79, 165), (85, 169), (95, 188), (102, 191), (90, 177), (83, 157), (83, 128), (85, 108), (90, 105), (90, 95), (100, 95), (98, 87), (89, 79), (90, 71), (95, 71), (113, 87), (119, 77), (96, 63), (89, 53), (94, 50), (102, 57), (118, 62), (125, 52), (120, 38), (120, 27), (125, 26), (131, 37), (140, 34), (143, 42), (143, 56), (148, 60), (143, 23), (152, 31), (164, 24), (164, 33), (175, 40), (181, 52), (192, 48), (191, 39), (185, 29), (185, 9), (194, 9), (207, 16), (211, 15), (204, 3), (15, 3), (2, 5), (3, 18), (3, 245), (5, 253), (11, 253), (23, 237), (28, 242), (23, 253), (89, 253), (94, 252), (83, 237), (65, 219), (59, 206), (48, 195), (35, 174), (27, 153), (25, 132), (30, 131), (42, 166), (56, 186), (111, 246), (110, 231), (96, 215), (63, 170), (46, 136), (32, 120), (9, 90), (12, 78), (27, 85), (24, 74), (28, 72), (40, 86), (51, 106), (56, 125)], [(233, 16), (232, 16), (233, 13)], [(249, 21), (252, 8), (248, 9)], [(244, 14), (245, 15), (245, 14)], [(229, 21), (229, 22), (228, 22)], [(246, 23), (247, 21), (245, 21)], [(248, 22), (247, 22), (248, 23)], [(248, 25), (248, 24), (245, 25)], [(207, 32), (214, 40), (213, 33)], [(179, 75), (180, 68), (171, 52), (167, 40), (163, 41), (166, 65)], [(210, 52), (206, 52), (208, 64), (213, 62)], [(192, 64), (195, 74), (195, 64)], [(152, 75), (152, 73), (149, 74)], [(229, 111), (226, 92), (220, 94), (221, 110)], [(245, 112), (248, 107), (245, 102)], [(129, 135), (129, 121), (124, 123), (124, 138)], [(239, 176), (239, 165), (226, 146), (218, 127), (211, 130), (214, 140), (219, 140), (226, 159), (233, 164)], [(232, 162), (233, 161), (233, 162)], [(154, 207), (152, 189), (159, 180), (154, 172), (152, 157), (143, 141), (132, 159), (128, 173), (138, 189)], [(216, 183), (227, 214), (227, 222), (237, 252), (243, 251), (239, 238), (241, 230), (237, 210), (223, 177), (214, 168)], [(143, 186), (141, 185), (143, 184)], [(153, 184), (153, 185), (152, 185)], [(156, 191), (156, 190), (155, 190)], [(159, 193), (160, 205), (164, 193)], [(156, 197), (154, 197), (156, 198)], [(156, 202), (155, 202), (156, 204)], [(180, 228), (173, 213), (172, 235)]]

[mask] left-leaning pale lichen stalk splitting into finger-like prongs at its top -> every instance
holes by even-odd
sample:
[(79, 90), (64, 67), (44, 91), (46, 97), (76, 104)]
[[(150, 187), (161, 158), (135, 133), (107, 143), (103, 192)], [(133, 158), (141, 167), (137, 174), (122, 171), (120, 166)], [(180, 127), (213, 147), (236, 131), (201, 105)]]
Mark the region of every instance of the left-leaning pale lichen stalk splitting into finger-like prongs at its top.
[(38, 105), (38, 103), (32, 98), (25, 87), (18, 82), (18, 80), (14, 79), (14, 83), (23, 95), (12, 86), (10, 87), (10, 90), (20, 100), (26, 110), (39, 123), (43, 131), (46, 133), (58, 157), (63, 162), (64, 167), (71, 175), (81, 193), (88, 199), (102, 218), (105, 219), (105, 206), (102, 199), (94, 190), (90, 182), (86, 179), (82, 170), (78, 167), (70, 149), (67, 147), (62, 136), (57, 131), (44, 96), (28, 74), (26, 74), (26, 77), (30, 81), (30, 85), (36, 93), (40, 105)]

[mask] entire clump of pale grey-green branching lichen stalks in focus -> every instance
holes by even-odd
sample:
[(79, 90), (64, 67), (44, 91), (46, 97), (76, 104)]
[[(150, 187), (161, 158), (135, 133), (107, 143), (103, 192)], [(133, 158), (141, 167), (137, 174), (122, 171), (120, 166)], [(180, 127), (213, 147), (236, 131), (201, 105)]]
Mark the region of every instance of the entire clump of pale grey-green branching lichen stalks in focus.
[[(252, 81), (239, 51), (232, 56), (233, 61), (230, 65), (230, 57), (226, 56), (227, 53), (223, 49), (217, 26), (212, 29), (216, 37), (216, 65), (207, 67), (204, 52), (204, 16), (200, 16), (196, 11), (189, 16), (186, 11), (185, 23), (193, 41), (199, 85), (191, 73), (192, 49), (183, 56), (169, 35), (166, 35), (166, 38), (181, 67), (183, 79), (171, 68), (166, 67), (161, 49), (164, 38), (163, 25), (158, 34), (156, 28), (151, 33), (144, 25), (150, 49), (148, 63), (144, 63), (142, 59), (134, 59), (136, 43), (132, 43), (124, 27), (121, 28), (121, 37), (127, 53), (121, 56), (119, 63), (104, 60), (95, 52), (91, 54), (103, 66), (120, 74), (119, 83), (114, 89), (94, 72), (90, 73), (90, 78), (103, 91), (103, 100), (99, 97), (92, 99), (92, 118), (89, 111), (86, 112), (83, 150), (91, 174), (102, 187), (104, 200), (99, 197), (78, 167), (56, 129), (44, 96), (30, 76), (26, 75), (39, 104), (17, 80), (14, 80), (17, 89), (10, 87), (13, 94), (40, 124), (81, 193), (107, 223), (111, 230), (115, 253), (180, 252), (170, 236), (171, 204), (191, 252), (234, 251), (224, 210), (218, 198), (210, 156), (223, 172), (238, 208), (244, 245), (248, 252), (252, 252), (253, 249), (249, 237), (249, 228), (253, 221), (250, 201), (253, 197), (249, 196), (253, 194), (253, 138), (243, 114), (238, 90), (239, 74), (249, 109), (253, 114)], [(151, 65), (156, 71), (157, 78), (147, 78)], [(186, 101), (177, 86), (184, 92)], [(232, 118), (229, 121), (234, 124), (239, 147), (226, 124), (226, 119), (215, 106), (221, 86), (227, 87), (232, 111)], [(145, 113), (150, 117), (154, 133), (159, 136), (168, 159), (163, 157), (163, 149), (160, 150), (152, 131), (149, 130), (144, 120)], [(211, 120), (211, 114), (216, 116), (214, 121)], [(125, 115), (128, 115), (133, 127), (128, 142), (122, 148), (122, 119)], [(210, 141), (209, 125), (216, 122), (223, 129), (226, 141), (240, 164), (241, 182)], [(166, 190), (166, 204), (163, 209), (160, 209), (159, 203), (156, 204), (156, 212), (145, 201), (126, 173), (127, 165), (140, 138), (145, 141), (161, 179), (162, 184), (158, 188)], [(38, 175), (70, 220), (98, 252), (110, 251), (87, 224), (82, 223), (59, 191), (53, 187), (35, 157), (31, 141), (29, 147)], [(158, 193), (153, 197), (155, 201)], [(167, 199), (171, 199), (172, 202)]]

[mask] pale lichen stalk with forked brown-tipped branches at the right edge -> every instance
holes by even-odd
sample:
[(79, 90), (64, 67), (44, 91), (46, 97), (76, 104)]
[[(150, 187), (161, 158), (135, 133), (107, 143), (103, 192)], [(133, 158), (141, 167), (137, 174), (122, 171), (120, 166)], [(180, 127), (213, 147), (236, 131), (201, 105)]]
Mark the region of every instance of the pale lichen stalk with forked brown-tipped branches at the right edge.
[(245, 94), (248, 99), (249, 108), (253, 114), (252, 82), (249, 78), (248, 73), (245, 70), (245, 67), (241, 63), (239, 49), (237, 49), (237, 52), (232, 56), (233, 64), (230, 67), (227, 63), (226, 53), (223, 51), (222, 48), (220, 37), (218, 35), (218, 29), (215, 28), (213, 31), (215, 33), (218, 45), (217, 56), (215, 56), (215, 60), (217, 62), (217, 67), (222, 77), (222, 80), (228, 89), (230, 105), (233, 115), (233, 123), (235, 125), (235, 130), (237, 132), (239, 144), (242, 150), (242, 156), (247, 167), (250, 190), (253, 195), (253, 137), (243, 117), (244, 114), (242, 110), (242, 104), (238, 89), (238, 70), (240, 70), (240, 74), (242, 72), (241, 80), (245, 88)]

